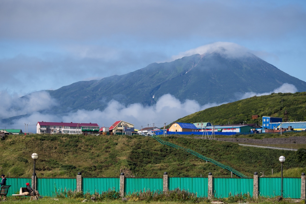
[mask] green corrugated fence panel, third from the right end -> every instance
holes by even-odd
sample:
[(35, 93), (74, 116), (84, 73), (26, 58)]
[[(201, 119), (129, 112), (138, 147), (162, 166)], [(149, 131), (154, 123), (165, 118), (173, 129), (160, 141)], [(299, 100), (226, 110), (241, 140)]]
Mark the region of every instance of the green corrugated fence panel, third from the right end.
[(207, 197), (208, 178), (205, 177), (168, 177), (168, 188), (170, 191), (179, 188), (197, 197)]

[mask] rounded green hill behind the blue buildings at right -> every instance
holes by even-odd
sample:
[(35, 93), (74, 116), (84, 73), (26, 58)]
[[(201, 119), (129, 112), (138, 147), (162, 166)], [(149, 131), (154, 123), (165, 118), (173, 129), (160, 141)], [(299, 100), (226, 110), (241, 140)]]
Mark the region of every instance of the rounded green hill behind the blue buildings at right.
[[(287, 110), (290, 121), (306, 121), (306, 92), (272, 93), (265, 96), (254, 96), (240, 101), (208, 108), (178, 119), (176, 122), (213, 122), (214, 124), (257, 123), (262, 116), (284, 118)], [(252, 120), (252, 115), (260, 118)], [(262, 123), (260, 123), (262, 124)]]

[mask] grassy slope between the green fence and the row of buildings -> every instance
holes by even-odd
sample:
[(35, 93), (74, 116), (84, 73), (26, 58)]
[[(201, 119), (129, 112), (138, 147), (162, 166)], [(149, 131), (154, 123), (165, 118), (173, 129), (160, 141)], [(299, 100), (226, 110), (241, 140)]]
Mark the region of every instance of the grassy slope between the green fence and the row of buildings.
[[(235, 143), (182, 137), (164, 137), (166, 141), (190, 148), (234, 169), (252, 176), (253, 172), (277, 173), (278, 157), (286, 157), (285, 169), (306, 165), (305, 151), (281, 151), (241, 147)], [(0, 174), (11, 177), (32, 175), (31, 154), (39, 154), (36, 162), (39, 177), (127, 176), (162, 177), (200, 176), (212, 172), (215, 176), (230, 176), (230, 172), (206, 163), (182, 150), (161, 145), (144, 136), (84, 136), (84, 135), (10, 135), (0, 141), (2, 157)]]

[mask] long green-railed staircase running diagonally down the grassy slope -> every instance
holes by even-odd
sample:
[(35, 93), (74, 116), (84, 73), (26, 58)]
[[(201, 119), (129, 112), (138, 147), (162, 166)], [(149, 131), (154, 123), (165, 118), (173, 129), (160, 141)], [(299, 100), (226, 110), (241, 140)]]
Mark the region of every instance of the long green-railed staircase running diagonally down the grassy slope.
[(186, 148), (177, 146), (177, 145), (175, 145), (175, 144), (172, 144), (172, 143), (170, 143), (170, 142), (165, 142), (164, 140), (160, 139), (160, 138), (159, 138), (158, 136), (156, 136), (156, 135), (153, 135), (152, 137), (153, 137), (154, 139), (156, 139), (157, 141), (159, 141), (159, 143), (161, 143), (161, 144), (168, 145), (168, 146), (170, 146), (170, 147), (174, 147), (174, 148), (177, 148), (177, 149), (185, 150), (186, 152), (189, 152), (190, 154), (193, 154), (193, 155), (197, 156), (197, 157), (200, 158), (200, 159), (203, 159), (203, 160), (205, 160), (205, 161), (209, 161), (209, 162), (211, 162), (211, 163), (213, 163), (213, 164), (215, 164), (215, 165), (217, 165), (217, 166), (220, 166), (220, 167), (223, 168), (223, 169), (227, 169), (227, 170), (233, 172), (233, 174), (235, 174), (235, 175), (237, 175), (237, 176), (239, 176), (239, 177), (241, 177), (241, 178), (249, 178), (248, 176), (245, 176), (244, 174), (242, 174), (242, 173), (238, 172), (237, 170), (233, 169), (232, 167), (226, 166), (226, 165), (224, 165), (224, 164), (221, 164), (220, 162), (218, 162), (218, 161), (216, 161), (216, 160), (213, 160), (213, 159), (211, 159), (211, 158), (204, 157), (202, 154), (199, 154), (199, 153), (197, 153), (197, 152), (195, 152), (195, 151), (193, 151), (193, 150), (191, 150), (191, 149), (186, 149)]

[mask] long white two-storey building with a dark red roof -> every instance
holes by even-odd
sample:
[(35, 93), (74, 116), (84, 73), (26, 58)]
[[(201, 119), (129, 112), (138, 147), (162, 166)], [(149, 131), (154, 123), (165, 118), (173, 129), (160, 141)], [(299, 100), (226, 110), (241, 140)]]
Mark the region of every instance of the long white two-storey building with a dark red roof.
[(57, 122), (37, 122), (36, 133), (49, 134), (99, 134), (99, 125), (96, 123), (57, 123)]

